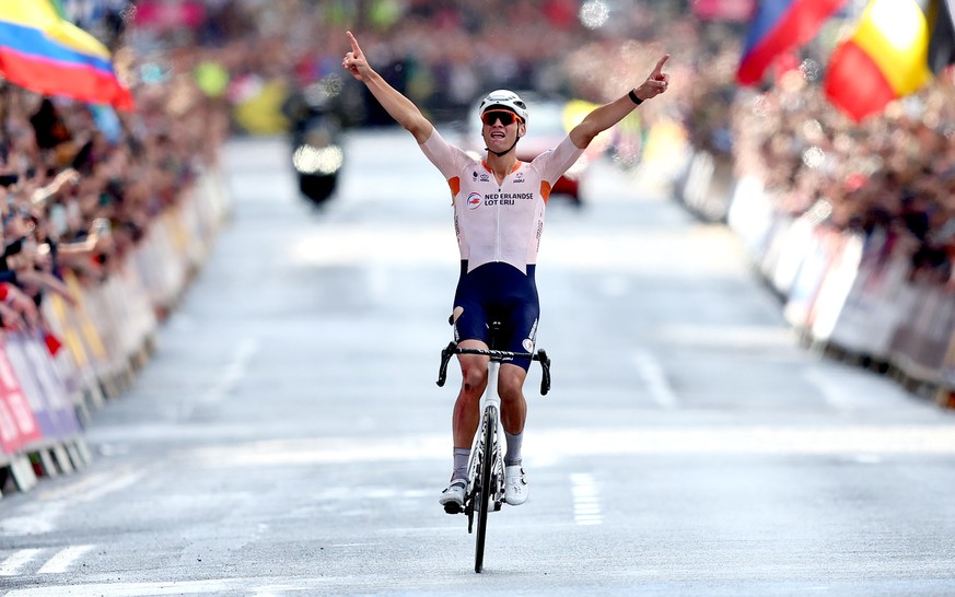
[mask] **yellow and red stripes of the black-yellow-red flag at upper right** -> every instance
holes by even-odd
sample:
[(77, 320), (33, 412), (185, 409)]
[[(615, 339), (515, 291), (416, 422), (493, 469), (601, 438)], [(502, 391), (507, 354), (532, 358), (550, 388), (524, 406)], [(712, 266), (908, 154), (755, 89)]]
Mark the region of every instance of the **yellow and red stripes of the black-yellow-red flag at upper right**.
[(929, 19), (916, 0), (870, 0), (859, 25), (829, 58), (826, 96), (855, 121), (932, 78)]

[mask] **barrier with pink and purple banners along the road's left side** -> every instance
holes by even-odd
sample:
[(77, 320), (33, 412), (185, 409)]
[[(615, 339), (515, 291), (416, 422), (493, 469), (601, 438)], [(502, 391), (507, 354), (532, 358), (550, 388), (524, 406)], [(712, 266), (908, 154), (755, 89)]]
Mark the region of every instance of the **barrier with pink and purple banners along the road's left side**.
[(73, 301), (48, 294), (47, 332), (0, 340), (0, 490), (89, 465), (91, 411), (123, 394), (155, 350), (155, 332), (201, 268), (229, 213), (224, 184), (203, 172), (150, 224), (103, 280), (63, 281)]

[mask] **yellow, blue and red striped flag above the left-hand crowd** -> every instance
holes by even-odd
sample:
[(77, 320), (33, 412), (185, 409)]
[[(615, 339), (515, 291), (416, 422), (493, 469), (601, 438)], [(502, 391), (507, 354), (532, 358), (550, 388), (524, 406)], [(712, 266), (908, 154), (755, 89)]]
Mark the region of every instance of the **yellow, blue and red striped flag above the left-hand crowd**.
[(0, 74), (44, 95), (133, 108), (109, 50), (62, 19), (50, 0), (0, 0)]

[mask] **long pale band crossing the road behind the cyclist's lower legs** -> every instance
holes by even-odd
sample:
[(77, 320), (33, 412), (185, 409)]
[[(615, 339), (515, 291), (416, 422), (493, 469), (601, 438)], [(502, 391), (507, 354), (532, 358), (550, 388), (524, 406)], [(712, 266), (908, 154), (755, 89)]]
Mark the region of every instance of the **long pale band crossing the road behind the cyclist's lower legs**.
[[(592, 455), (955, 455), (953, 424), (686, 425), (535, 429), (541, 459)], [(443, 460), (447, 436), (315, 437), (184, 449), (177, 457), (209, 467), (256, 468), (336, 463)], [(536, 458), (526, 453), (525, 457)]]

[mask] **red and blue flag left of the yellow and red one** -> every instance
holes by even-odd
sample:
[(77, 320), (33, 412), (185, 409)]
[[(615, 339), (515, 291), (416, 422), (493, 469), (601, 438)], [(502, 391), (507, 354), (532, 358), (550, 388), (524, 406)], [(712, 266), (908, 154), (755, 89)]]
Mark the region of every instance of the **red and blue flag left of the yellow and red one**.
[(741, 85), (752, 85), (780, 55), (812, 39), (819, 26), (846, 0), (764, 0), (749, 24), (736, 72)]

